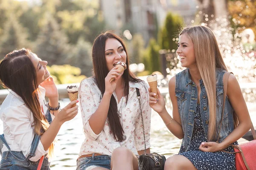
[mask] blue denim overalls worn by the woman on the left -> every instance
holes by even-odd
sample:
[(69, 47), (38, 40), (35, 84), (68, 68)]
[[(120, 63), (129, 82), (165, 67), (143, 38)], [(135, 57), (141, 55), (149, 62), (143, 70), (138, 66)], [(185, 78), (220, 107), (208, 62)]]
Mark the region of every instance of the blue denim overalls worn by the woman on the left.
[[(52, 122), (52, 116), (49, 111), (45, 114), (46, 119), (49, 123)], [(32, 146), (29, 152), (28, 157), (26, 158), (22, 151), (11, 151), (9, 145), (4, 139), (4, 134), (0, 135), (0, 142), (6, 145), (9, 151), (5, 151), (2, 153), (2, 159), (0, 162), (0, 170), (37, 170), (39, 161), (30, 161), (29, 159), (35, 156), (35, 150), (38, 147), (38, 143), (41, 139), (41, 136), (35, 134), (35, 137), (32, 141)], [(2, 141), (1, 141), (2, 140)], [(1, 148), (2, 149), (2, 148)], [(2, 152), (2, 150), (0, 150)], [(49, 170), (50, 162), (48, 161), (48, 157), (44, 156), (44, 161), (41, 167), (41, 170)]]

